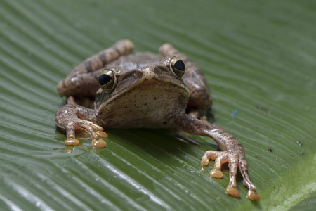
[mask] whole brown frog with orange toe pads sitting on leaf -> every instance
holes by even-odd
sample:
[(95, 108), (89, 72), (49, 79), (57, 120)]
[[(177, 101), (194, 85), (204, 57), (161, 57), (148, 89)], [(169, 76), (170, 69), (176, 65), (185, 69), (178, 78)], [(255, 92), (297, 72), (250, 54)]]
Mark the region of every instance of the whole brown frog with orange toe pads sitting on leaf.
[[(197, 65), (171, 44), (159, 53), (136, 53), (133, 42), (124, 39), (77, 65), (57, 86), (67, 104), (55, 114), (55, 122), (66, 131), (67, 146), (77, 146), (76, 130), (91, 136), (93, 148), (105, 148), (107, 128), (176, 129), (207, 136), (220, 151), (206, 151), (200, 165), (215, 160), (210, 176), (223, 178), (221, 167), (228, 162), (226, 193), (239, 198), (236, 175), (242, 174), (250, 200), (260, 200), (251, 182), (242, 144), (222, 127), (207, 121), (203, 111), (213, 100), (206, 78)], [(81, 99), (94, 100), (94, 109)]]

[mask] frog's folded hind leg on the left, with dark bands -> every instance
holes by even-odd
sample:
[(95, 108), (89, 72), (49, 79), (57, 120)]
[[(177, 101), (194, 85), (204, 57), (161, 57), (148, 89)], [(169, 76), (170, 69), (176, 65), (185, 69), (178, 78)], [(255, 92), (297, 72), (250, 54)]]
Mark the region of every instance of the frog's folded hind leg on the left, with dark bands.
[[(87, 58), (70, 72), (57, 85), (58, 93), (62, 96), (91, 96), (98, 90), (98, 77), (102, 68), (120, 56), (133, 51), (133, 43), (121, 40), (104, 51)], [(89, 87), (89, 89), (87, 89)]]

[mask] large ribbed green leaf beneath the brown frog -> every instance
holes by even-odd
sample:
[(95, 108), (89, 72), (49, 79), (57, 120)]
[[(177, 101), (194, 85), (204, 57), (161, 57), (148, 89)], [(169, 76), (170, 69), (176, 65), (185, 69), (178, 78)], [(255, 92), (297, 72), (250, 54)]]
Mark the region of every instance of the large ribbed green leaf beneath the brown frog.
[[(1, 1), (1, 209), (315, 210), (315, 18), (315, 1)], [(136, 52), (169, 42), (199, 65), (259, 202), (240, 175), (240, 198), (225, 193), (227, 166), (214, 179), (199, 165), (218, 150), (206, 137), (111, 129), (107, 148), (65, 148), (56, 84), (119, 39)]]

